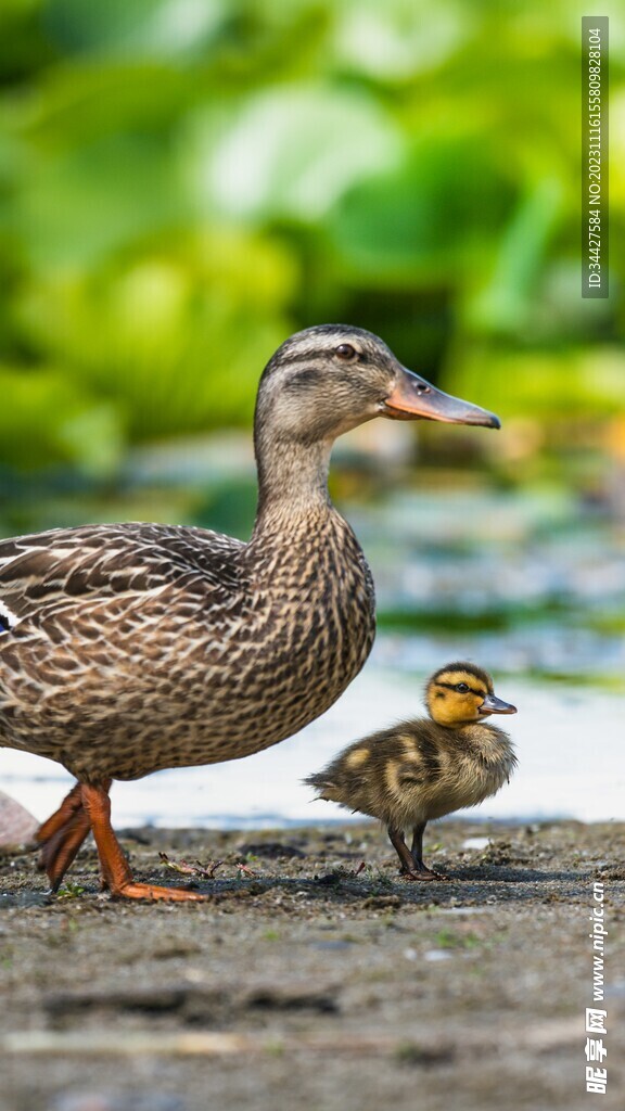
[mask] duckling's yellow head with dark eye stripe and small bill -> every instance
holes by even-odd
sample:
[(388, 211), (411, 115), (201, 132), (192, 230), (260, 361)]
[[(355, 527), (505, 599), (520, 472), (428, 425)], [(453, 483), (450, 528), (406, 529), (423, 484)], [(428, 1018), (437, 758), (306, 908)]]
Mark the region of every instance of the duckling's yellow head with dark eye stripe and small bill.
[(472, 724), (490, 713), (516, 713), (516, 707), (496, 697), (490, 675), (475, 663), (439, 668), (428, 679), (426, 703), (430, 718), (449, 729)]

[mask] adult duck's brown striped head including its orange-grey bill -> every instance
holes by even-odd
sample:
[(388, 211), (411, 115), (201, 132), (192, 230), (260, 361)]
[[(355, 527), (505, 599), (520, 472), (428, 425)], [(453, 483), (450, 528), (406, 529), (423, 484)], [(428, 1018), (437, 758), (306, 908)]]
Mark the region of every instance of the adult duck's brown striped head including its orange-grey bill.
[(257, 433), (270, 428), (274, 441), (331, 442), (374, 417), (499, 428), (493, 413), (443, 393), (361, 328), (307, 328), (286, 340), (265, 368), (256, 427)]

